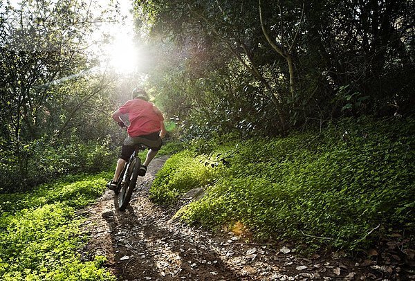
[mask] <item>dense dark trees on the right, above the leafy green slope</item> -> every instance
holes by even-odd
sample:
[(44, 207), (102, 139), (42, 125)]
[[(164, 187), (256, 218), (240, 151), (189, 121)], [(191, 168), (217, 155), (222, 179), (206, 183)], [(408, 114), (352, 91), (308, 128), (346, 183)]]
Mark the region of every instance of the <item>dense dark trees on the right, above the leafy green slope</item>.
[(413, 1), (135, 3), (150, 35), (177, 48), (169, 71), (151, 78), (194, 136), (277, 136), (313, 120), (413, 108)]

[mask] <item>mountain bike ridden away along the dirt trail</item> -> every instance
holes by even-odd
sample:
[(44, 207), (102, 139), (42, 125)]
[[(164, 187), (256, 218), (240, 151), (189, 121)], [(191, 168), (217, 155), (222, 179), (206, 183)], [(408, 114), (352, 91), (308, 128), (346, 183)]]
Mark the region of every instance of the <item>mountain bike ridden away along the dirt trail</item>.
[(145, 149), (144, 145), (136, 146), (136, 149), (124, 166), (124, 169), (122, 169), (120, 177), (118, 178), (118, 185), (115, 193), (118, 197), (118, 209), (120, 211), (127, 208), (133, 190), (136, 188), (138, 170), (140, 170), (141, 167), (141, 159), (138, 156), (138, 152)]

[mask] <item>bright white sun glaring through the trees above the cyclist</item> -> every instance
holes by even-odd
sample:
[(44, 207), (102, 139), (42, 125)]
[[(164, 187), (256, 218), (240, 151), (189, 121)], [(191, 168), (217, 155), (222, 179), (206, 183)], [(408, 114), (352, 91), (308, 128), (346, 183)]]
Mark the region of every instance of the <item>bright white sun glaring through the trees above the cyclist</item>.
[(117, 73), (132, 73), (138, 67), (139, 50), (131, 35), (120, 33), (109, 47), (109, 65)]

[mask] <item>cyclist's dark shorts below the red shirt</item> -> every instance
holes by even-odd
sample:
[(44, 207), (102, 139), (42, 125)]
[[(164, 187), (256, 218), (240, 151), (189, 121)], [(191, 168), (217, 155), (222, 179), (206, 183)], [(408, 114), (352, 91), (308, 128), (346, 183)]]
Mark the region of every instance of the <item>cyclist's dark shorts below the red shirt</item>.
[(154, 132), (145, 136), (127, 136), (124, 143), (122, 144), (121, 149), (121, 159), (128, 161), (130, 156), (133, 154), (136, 145), (145, 145), (154, 151), (160, 150), (161, 147), (161, 138), (158, 135), (158, 132)]

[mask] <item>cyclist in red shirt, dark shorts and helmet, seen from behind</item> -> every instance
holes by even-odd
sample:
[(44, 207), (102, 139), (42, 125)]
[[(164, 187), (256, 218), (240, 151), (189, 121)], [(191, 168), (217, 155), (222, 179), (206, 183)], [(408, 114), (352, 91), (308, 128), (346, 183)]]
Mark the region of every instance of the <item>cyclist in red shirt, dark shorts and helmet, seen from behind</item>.
[(128, 114), (130, 125), (127, 127), (128, 136), (122, 144), (121, 156), (118, 159), (116, 172), (107, 187), (116, 190), (118, 177), (120, 176), (125, 163), (127, 163), (131, 154), (133, 154), (135, 145), (143, 144), (149, 147), (145, 162), (142, 163), (138, 174), (144, 176), (147, 172), (147, 166), (153, 160), (161, 147), (161, 140), (165, 137), (166, 129), (164, 118), (161, 111), (151, 102), (143, 89), (133, 89), (133, 99), (125, 102), (122, 107), (117, 109), (113, 115), (113, 120), (120, 127), (127, 127), (121, 116)]

